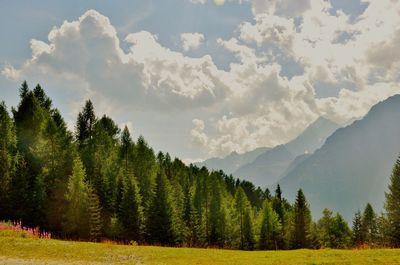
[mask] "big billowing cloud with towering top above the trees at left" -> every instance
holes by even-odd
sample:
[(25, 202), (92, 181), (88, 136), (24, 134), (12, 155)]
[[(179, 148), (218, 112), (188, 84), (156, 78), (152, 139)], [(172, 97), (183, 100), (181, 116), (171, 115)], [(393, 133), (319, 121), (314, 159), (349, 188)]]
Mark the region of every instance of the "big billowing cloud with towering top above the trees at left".
[(54, 28), (48, 41), (32, 40), (32, 58), (20, 69), (6, 67), (3, 74), (12, 79), (68, 76), (82, 81), (82, 90), (92, 96), (136, 108), (210, 106), (228, 91), (210, 56), (173, 52), (146, 31), (126, 37), (126, 53), (109, 19), (94, 10)]

